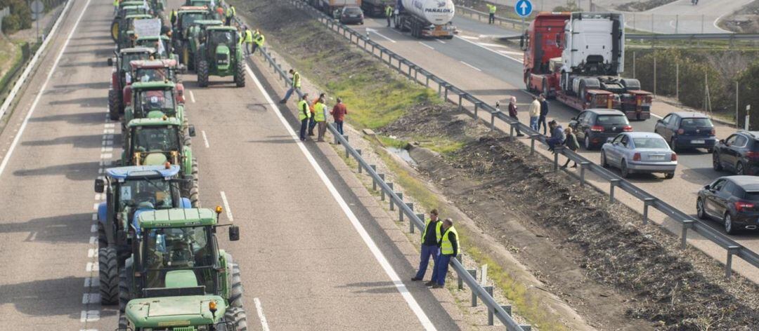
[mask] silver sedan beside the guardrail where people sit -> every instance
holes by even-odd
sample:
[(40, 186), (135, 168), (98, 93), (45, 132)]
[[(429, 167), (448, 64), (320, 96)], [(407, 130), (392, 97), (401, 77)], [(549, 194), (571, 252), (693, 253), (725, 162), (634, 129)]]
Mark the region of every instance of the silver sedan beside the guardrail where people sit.
[(620, 133), (601, 147), (601, 166), (616, 167), (627, 178), (630, 173), (664, 173), (675, 176), (677, 154), (656, 133)]

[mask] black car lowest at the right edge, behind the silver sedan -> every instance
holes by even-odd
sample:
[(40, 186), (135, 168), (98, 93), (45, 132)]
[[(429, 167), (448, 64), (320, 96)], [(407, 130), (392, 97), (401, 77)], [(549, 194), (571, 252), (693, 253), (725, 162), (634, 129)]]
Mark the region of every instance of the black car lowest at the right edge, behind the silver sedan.
[(698, 191), (698, 218), (722, 220), (725, 232), (757, 230), (759, 226), (759, 177), (726, 176)]

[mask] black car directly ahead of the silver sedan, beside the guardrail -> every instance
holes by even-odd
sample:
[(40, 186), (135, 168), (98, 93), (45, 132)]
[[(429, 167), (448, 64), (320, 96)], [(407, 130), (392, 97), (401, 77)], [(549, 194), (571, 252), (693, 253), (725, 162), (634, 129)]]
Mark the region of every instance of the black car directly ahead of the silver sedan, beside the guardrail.
[(619, 133), (632, 132), (625, 113), (613, 109), (586, 109), (572, 117), (569, 127), (587, 150), (603, 145)]

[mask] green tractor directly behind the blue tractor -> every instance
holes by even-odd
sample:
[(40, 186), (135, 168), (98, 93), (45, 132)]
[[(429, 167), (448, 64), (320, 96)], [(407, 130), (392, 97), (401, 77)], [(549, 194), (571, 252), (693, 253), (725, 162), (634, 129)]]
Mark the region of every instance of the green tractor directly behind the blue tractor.
[(187, 127), (184, 134), (182, 122), (176, 117), (138, 118), (131, 120), (124, 130), (124, 151), (121, 165), (175, 164), (181, 168), (184, 179), (182, 196), (197, 192), (198, 167), (193, 158), (190, 137), (195, 127)]

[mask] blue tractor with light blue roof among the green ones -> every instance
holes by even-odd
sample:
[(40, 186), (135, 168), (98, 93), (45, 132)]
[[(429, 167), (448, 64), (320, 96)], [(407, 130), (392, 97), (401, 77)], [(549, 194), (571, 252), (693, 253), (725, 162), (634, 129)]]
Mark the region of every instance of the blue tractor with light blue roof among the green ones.
[(172, 165), (115, 167), (95, 180), (95, 192), (106, 201), (97, 208), (97, 243), (102, 304), (118, 302), (118, 270), (131, 255), (134, 230), (130, 223), (144, 211), (197, 208), (197, 189), (181, 197), (180, 168)]

